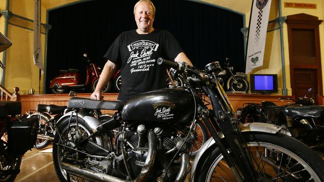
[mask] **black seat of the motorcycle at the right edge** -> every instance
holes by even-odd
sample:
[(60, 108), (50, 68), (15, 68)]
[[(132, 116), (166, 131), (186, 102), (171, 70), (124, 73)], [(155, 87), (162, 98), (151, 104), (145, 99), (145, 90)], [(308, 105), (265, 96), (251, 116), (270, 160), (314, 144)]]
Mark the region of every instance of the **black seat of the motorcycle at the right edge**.
[(285, 114), (290, 117), (320, 117), (324, 105), (292, 105), (285, 108)]

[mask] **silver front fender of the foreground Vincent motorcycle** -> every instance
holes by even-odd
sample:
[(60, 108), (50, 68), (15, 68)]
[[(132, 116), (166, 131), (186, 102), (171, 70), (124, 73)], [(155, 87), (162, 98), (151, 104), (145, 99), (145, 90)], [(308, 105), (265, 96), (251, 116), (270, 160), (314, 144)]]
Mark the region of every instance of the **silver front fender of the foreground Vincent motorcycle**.
[[(283, 129), (281, 126), (277, 126), (277, 125), (269, 124), (269, 123), (244, 123), (244, 124), (239, 124), (239, 127), (240, 127), (241, 132), (263, 132), (263, 133), (271, 133), (271, 134), (283, 133), (285, 135), (292, 136), (289, 131)], [(224, 135), (222, 132), (219, 132), (218, 136), (219, 136), (219, 138), (224, 138)], [(196, 171), (197, 164), (199, 163), (201, 156), (214, 143), (215, 143), (215, 140), (212, 137), (210, 137), (199, 149), (196, 157), (194, 158), (193, 164), (191, 166), (191, 173), (190, 173), (191, 182), (194, 181), (195, 171)]]

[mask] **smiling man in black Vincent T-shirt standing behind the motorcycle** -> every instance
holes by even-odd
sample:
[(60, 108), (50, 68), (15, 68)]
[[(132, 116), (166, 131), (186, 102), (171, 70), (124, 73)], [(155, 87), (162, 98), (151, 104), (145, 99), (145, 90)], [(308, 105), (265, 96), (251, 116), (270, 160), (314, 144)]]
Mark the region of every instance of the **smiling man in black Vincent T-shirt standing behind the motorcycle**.
[(116, 65), (121, 64), (122, 88), (118, 100), (165, 87), (166, 69), (157, 64), (160, 57), (186, 62), (190, 60), (183, 53), (175, 38), (165, 30), (153, 28), (155, 6), (151, 0), (140, 0), (134, 6), (136, 30), (120, 34), (113, 42), (105, 58), (103, 71), (91, 99), (100, 100), (104, 85), (112, 77)]

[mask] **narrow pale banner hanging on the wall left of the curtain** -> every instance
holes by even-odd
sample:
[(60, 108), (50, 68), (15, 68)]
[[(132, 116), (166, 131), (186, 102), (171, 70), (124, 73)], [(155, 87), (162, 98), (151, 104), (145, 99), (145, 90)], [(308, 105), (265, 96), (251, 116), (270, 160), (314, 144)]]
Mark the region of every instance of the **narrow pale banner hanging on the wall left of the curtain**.
[(34, 64), (41, 69), (44, 73), (43, 68), (43, 57), (41, 51), (41, 38), (40, 38), (40, 0), (34, 0)]

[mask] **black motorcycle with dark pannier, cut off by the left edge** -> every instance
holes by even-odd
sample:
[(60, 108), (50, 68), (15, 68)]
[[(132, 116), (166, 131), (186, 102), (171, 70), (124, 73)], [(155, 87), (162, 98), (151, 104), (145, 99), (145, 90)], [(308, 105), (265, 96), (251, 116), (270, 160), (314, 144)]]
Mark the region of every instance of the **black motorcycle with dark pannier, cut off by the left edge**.
[[(0, 33), (0, 52), (11, 46)], [(2, 69), (5, 65), (1, 63)], [(36, 141), (38, 120), (20, 115), (21, 103), (0, 101), (0, 182), (13, 182), (20, 172), (21, 158)]]

